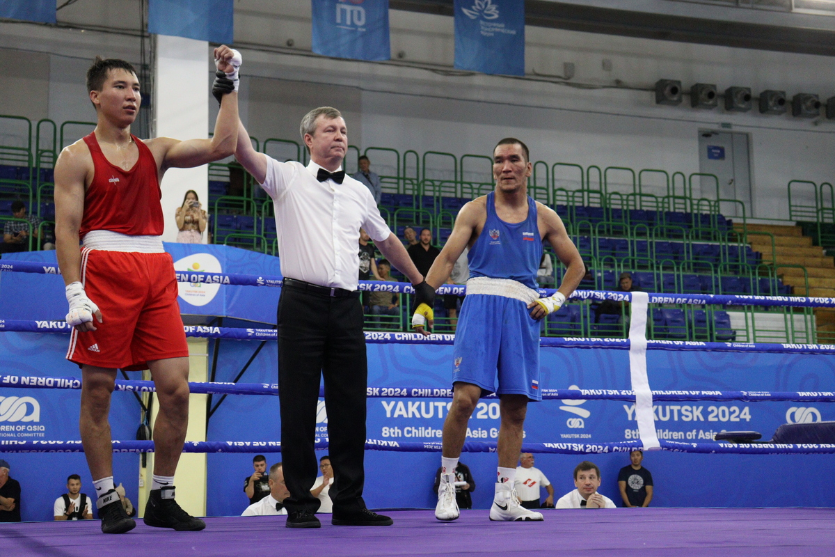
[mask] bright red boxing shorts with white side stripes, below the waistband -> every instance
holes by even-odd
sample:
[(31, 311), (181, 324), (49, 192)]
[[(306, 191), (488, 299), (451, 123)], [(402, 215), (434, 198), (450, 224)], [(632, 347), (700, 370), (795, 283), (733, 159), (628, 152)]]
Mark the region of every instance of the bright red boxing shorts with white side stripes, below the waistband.
[(149, 360), (189, 356), (170, 254), (83, 248), (81, 283), (104, 322), (94, 319), (95, 331), (73, 329), (69, 361), (135, 371)]

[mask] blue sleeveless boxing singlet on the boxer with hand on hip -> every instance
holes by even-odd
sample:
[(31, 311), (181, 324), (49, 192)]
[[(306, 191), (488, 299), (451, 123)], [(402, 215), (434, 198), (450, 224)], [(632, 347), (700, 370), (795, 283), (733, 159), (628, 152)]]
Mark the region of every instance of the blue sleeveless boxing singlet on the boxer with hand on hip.
[(542, 261), (542, 239), (536, 201), (528, 196), (528, 218), (511, 224), (496, 215), (495, 192), (487, 195), (487, 220), (467, 254), (470, 276), (512, 279), (537, 289), (536, 271)]

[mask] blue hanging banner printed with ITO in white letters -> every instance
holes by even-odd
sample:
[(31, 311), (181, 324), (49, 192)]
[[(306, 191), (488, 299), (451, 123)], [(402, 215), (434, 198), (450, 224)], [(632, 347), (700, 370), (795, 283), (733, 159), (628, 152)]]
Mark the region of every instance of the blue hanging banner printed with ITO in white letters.
[(389, 60), (388, 0), (312, 0), (313, 52), (333, 58)]

